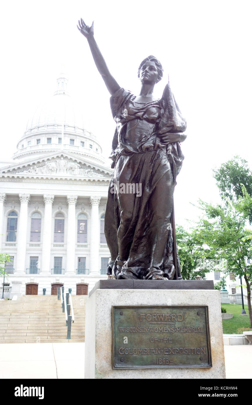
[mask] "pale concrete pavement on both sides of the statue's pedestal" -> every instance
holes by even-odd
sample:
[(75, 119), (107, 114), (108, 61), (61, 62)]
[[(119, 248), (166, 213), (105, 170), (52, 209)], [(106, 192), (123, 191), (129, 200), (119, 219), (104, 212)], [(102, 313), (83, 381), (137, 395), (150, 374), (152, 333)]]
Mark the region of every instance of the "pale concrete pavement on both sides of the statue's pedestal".
[[(252, 345), (224, 346), (227, 378), (252, 378)], [(85, 343), (0, 344), (0, 378), (84, 378)]]

